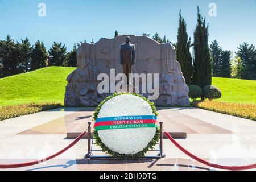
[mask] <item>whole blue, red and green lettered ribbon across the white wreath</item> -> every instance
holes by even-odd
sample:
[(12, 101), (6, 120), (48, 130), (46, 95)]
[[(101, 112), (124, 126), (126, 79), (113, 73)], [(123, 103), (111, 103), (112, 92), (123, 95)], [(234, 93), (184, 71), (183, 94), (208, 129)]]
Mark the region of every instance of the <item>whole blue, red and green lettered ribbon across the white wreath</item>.
[(94, 129), (135, 129), (140, 127), (158, 127), (155, 115), (135, 115), (98, 118), (94, 124)]

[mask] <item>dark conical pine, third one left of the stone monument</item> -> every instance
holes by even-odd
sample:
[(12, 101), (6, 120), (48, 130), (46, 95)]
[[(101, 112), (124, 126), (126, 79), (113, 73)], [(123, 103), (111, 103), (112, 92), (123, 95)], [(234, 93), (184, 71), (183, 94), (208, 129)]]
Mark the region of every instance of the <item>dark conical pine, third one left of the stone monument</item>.
[(39, 40), (35, 43), (35, 47), (31, 53), (31, 70), (44, 68), (47, 65), (48, 53), (43, 42)]

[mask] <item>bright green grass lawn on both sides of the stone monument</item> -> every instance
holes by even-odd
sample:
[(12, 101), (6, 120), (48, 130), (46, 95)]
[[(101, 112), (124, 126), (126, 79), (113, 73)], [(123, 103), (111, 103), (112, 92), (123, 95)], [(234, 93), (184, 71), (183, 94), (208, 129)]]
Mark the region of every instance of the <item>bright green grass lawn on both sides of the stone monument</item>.
[[(47, 67), (0, 79), (0, 105), (64, 102), (66, 78), (75, 68)], [(256, 104), (256, 81), (213, 78), (222, 91), (220, 101)]]

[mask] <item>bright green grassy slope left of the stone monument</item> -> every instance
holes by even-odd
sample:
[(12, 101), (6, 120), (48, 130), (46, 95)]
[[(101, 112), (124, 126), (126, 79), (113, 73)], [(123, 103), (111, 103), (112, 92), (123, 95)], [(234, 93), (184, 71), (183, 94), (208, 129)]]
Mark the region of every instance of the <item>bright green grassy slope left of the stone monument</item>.
[(64, 104), (66, 78), (75, 68), (47, 67), (0, 79), (0, 105), (54, 101)]

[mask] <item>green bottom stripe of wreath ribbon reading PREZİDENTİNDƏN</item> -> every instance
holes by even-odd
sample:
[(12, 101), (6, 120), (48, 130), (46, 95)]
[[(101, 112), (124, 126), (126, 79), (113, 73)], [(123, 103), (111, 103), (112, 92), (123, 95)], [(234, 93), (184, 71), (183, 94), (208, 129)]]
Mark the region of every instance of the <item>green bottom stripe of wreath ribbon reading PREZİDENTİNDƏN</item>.
[(143, 127), (158, 127), (158, 125), (153, 123), (142, 123), (142, 124), (132, 124), (132, 125), (102, 125), (95, 127), (95, 130), (115, 130), (115, 129), (137, 129)]

